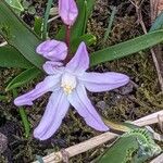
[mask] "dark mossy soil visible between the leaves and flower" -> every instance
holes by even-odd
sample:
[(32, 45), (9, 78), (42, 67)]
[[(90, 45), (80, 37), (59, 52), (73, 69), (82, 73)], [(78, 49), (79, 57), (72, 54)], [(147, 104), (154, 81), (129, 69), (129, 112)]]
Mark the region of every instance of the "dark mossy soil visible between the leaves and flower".
[[(38, 2), (30, 0), (30, 5), (36, 8), (35, 15), (42, 15), (46, 7), (45, 1), (41, 0)], [(117, 9), (113, 27), (106, 42), (101, 43), (113, 7)], [(149, 1), (145, 0), (142, 3), (142, 17), (147, 29), (151, 26), (149, 12)], [(35, 15), (25, 12), (22, 17), (29, 26), (33, 26)], [(55, 24), (51, 24), (51, 35), (54, 35), (54, 32), (58, 30), (57, 27)], [(136, 14), (135, 7), (129, 0), (97, 0), (93, 13), (88, 22), (87, 32), (91, 32), (91, 34), (97, 37), (97, 45), (91, 47), (91, 49), (95, 50), (143, 34), (141, 26), (138, 24), (138, 15)], [(105, 118), (114, 122), (134, 121), (163, 109), (163, 93), (160, 92), (156, 72), (149, 50), (141, 51), (128, 58), (100, 64), (90, 71), (121, 72), (127, 74), (133, 80), (133, 83), (121, 89), (102, 93), (89, 93), (98, 112)], [(29, 163), (36, 160), (36, 155), (47, 155), (53, 151), (59, 151), (63, 148), (85, 141), (99, 134), (89, 128), (83, 118), (71, 109), (58, 133), (49, 140), (42, 142), (38, 141), (33, 138), (33, 134), (30, 134), (29, 138), (25, 138), (18, 111), (13, 104), (12, 92), (4, 91), (9, 82), (20, 72), (21, 70), (0, 68), (0, 133), (8, 138), (8, 148), (0, 154), (0, 162)], [(41, 79), (42, 78), (38, 78), (26, 85), (26, 87), (21, 88), (20, 93), (33, 89), (35, 83)], [(33, 108), (26, 108), (32, 124), (32, 133), (45, 112), (48, 98), (49, 95), (37, 100)], [(5, 145), (3, 143), (3, 146)], [(88, 163), (93, 161), (106, 146), (108, 145), (103, 145), (84, 154), (79, 154), (71, 159), (70, 162)]]

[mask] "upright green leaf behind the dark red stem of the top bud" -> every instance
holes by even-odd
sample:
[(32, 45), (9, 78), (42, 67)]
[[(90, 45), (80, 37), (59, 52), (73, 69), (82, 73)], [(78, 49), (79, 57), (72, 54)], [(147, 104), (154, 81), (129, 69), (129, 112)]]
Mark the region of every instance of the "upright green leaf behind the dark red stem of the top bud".
[[(71, 40), (83, 36), (85, 34), (86, 24), (93, 9), (95, 0), (77, 0), (78, 17), (72, 28)], [(57, 39), (64, 40), (65, 38), (65, 26), (62, 26), (61, 30), (57, 35)]]

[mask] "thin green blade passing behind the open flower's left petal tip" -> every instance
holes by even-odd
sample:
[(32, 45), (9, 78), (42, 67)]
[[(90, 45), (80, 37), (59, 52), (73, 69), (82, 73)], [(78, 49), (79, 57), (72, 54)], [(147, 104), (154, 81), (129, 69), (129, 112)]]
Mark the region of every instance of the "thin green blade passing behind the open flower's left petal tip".
[[(13, 97), (14, 98), (17, 97), (16, 89), (13, 89)], [(30, 133), (30, 124), (28, 122), (26, 111), (23, 109), (23, 106), (20, 106), (18, 108), (18, 112), (20, 112), (20, 115), (21, 115), (21, 118), (22, 118), (22, 123), (23, 123), (23, 126), (24, 126), (25, 137), (28, 138), (29, 137), (29, 133)]]

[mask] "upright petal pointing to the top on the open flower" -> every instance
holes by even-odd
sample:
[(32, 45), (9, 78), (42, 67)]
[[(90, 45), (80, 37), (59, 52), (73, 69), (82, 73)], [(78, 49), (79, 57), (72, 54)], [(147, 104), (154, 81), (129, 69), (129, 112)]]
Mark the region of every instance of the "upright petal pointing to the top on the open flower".
[(74, 58), (66, 64), (66, 70), (70, 72), (84, 73), (89, 67), (89, 57), (85, 42), (82, 42)]

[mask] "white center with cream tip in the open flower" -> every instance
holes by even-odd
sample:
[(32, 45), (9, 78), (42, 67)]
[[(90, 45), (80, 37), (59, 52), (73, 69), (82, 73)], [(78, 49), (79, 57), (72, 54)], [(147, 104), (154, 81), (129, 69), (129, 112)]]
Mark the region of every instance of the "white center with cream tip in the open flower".
[(66, 95), (72, 93), (73, 89), (76, 87), (76, 77), (68, 73), (63, 74), (61, 79), (61, 87)]

